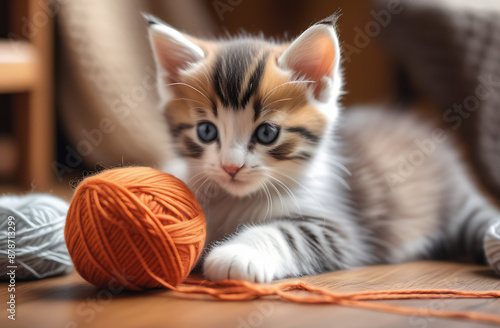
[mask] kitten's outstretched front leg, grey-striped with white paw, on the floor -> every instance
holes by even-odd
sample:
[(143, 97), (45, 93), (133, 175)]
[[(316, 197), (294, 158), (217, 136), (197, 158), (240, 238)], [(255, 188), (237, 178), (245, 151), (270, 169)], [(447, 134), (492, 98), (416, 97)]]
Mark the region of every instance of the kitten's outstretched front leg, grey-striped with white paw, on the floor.
[[(248, 226), (213, 247), (203, 271), (212, 281), (237, 279), (269, 283), (351, 267), (358, 262), (348, 231), (324, 220), (283, 219)], [(360, 247), (362, 248), (362, 247)]]

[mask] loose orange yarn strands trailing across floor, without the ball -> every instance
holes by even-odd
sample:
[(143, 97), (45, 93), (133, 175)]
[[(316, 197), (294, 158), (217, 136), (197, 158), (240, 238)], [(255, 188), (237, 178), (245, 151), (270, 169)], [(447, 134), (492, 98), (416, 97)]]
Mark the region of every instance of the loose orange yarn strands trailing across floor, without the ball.
[[(224, 280), (212, 283), (205, 280), (186, 280), (173, 290), (182, 293), (209, 294), (222, 300), (242, 301), (262, 296), (279, 296), (281, 299), (309, 304), (336, 304), (367, 310), (383, 311), (411, 316), (433, 316), (449, 319), (476, 320), (486, 323), (500, 324), (500, 316), (488, 313), (464, 311), (440, 311), (432, 309), (415, 309), (411, 307), (372, 303), (369, 300), (396, 299), (449, 299), (449, 298), (500, 298), (500, 291), (458, 291), (458, 290), (382, 290), (372, 292), (335, 293), (323, 288), (309, 286), (302, 282), (261, 285), (245, 281)], [(300, 295), (293, 291), (314, 293)]]

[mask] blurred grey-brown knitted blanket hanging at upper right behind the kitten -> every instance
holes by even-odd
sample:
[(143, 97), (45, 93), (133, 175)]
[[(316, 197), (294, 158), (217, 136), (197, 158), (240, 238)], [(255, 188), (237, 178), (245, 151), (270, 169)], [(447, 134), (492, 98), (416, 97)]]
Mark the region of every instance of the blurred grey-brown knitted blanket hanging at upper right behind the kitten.
[(374, 1), (372, 13), (389, 14), (382, 43), (465, 142), (473, 168), (500, 199), (500, 1), (401, 1), (397, 10), (391, 3)]

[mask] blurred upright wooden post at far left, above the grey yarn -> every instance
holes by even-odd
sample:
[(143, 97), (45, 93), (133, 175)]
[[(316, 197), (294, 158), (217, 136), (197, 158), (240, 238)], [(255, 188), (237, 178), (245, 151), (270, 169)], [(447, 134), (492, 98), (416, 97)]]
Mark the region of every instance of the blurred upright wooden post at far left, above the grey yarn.
[[(36, 49), (36, 80), (26, 95), (14, 98), (16, 129), (22, 166), (19, 179), (25, 188), (49, 190), (54, 174), (55, 115), (53, 102), (53, 19), (47, 0), (12, 1), (12, 30)], [(31, 24), (29, 28), (27, 24)]]

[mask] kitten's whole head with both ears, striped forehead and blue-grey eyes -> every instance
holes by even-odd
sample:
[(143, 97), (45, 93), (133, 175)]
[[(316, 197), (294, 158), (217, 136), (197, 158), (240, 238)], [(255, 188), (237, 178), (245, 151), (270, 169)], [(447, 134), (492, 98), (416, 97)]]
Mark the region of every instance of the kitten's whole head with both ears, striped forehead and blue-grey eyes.
[(153, 21), (150, 31), (168, 92), (165, 114), (188, 163), (190, 187), (213, 181), (246, 196), (283, 189), (305, 171), (336, 114), (333, 28), (315, 25), (312, 37), (296, 46), (183, 39), (159, 24)]

